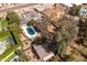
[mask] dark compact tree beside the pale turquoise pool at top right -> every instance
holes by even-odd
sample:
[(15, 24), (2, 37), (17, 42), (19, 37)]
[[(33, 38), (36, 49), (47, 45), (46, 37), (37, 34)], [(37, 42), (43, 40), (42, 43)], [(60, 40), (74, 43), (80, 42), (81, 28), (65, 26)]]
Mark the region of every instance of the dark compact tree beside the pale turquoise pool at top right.
[(73, 7), (69, 8), (68, 13), (70, 15), (79, 15), (79, 10), (80, 10), (80, 6), (73, 4)]

